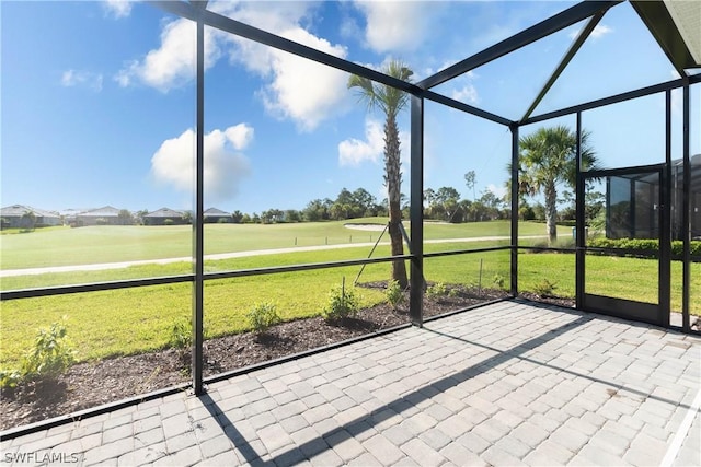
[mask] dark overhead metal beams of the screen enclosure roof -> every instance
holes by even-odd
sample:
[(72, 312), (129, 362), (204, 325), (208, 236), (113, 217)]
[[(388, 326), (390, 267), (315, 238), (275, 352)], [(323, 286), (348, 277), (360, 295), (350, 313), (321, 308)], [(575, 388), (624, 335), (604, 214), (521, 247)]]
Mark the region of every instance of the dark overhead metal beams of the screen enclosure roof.
[[(587, 0), (574, 4), (573, 7), (535, 24), (486, 49), (472, 55), (437, 73), (425, 78), (424, 80), (413, 84), (405, 81), (388, 77), (379, 71), (367, 67), (350, 62), (348, 60), (323, 52), (312, 47), (304, 46), (294, 40), (286, 39), (281, 36), (268, 33), (257, 27), (248, 25), (228, 16), (207, 10), (208, 0), (191, 0), (191, 1), (149, 1), (162, 10), (187, 17), (193, 21), (200, 19), (207, 26), (215, 27), (240, 37), (251, 39), (253, 42), (274, 47), (279, 50), (333, 67), (335, 69), (346, 71), (352, 74), (358, 74), (368, 78), (378, 83), (387, 84), (397, 89), (401, 89), (414, 96), (423, 97), (428, 101), (448, 105), (452, 108), (467, 112), (478, 117), (486, 118), (491, 121), (512, 126), (515, 121), (491, 112), (468, 105), (463, 102), (447, 97), (443, 94), (430, 91), (433, 87), (447, 81), (461, 77), (483, 65), (494, 61), (501, 57), (516, 51), (529, 44), (542, 39), (563, 28), (572, 26), (581, 21), (588, 20), (584, 28), (578, 33), (570, 49), (559, 62), (548, 82), (535, 97), (532, 104), (526, 110), (525, 115), (518, 120), (518, 124), (528, 124), (541, 121), (540, 116), (529, 119), (538, 104), (547, 95), (550, 87), (558, 80), (562, 71), (567, 67), (570, 61), (576, 56), (582, 45), (586, 42), (590, 33), (594, 31), (604, 14), (624, 0)], [(660, 48), (679, 73), (681, 80), (692, 77), (690, 83), (699, 82), (698, 75), (690, 75), (687, 69), (701, 68), (701, 5), (692, 0), (630, 0), (631, 5), (635, 9), (642, 21), (651, 34), (655, 37)], [(679, 80), (663, 83), (662, 87), (675, 89), (681, 86)], [(659, 92), (659, 86), (650, 86), (639, 90), (642, 93)], [(614, 96), (620, 100), (633, 98), (640, 96), (635, 94), (620, 94)], [(644, 95), (644, 94), (642, 94)], [(602, 101), (601, 101), (602, 102)], [(601, 102), (595, 102), (596, 106), (606, 105)], [(608, 102), (610, 103), (610, 102)], [(572, 114), (571, 108), (563, 109), (567, 114)], [(548, 119), (553, 118), (549, 113)]]

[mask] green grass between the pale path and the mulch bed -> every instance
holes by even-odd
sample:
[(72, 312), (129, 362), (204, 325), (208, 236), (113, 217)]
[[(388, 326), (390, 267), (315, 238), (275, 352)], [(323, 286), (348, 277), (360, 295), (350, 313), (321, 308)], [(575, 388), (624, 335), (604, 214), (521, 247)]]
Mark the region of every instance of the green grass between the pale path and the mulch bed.
[[(426, 252), (459, 248), (466, 244), (428, 244)], [(472, 244), (471, 244), (472, 245)], [(387, 255), (388, 247), (378, 252)], [(449, 249), (448, 248), (448, 249)], [(324, 252), (306, 252), (257, 256), (208, 261), (208, 270), (231, 270), (232, 268), (254, 268), (274, 260), (276, 264), (318, 262), (365, 256), (367, 248), (344, 248)], [(627, 283), (641, 284), (648, 280), (650, 264), (644, 259), (607, 257), (588, 258), (588, 268), (605, 271), (591, 283), (601, 288), (602, 293), (614, 296), (633, 293), (642, 301), (656, 300), (655, 288), (625, 290)], [(589, 262), (590, 260), (590, 262)], [(646, 265), (640, 266), (642, 262)], [(508, 288), (509, 252), (480, 252), (470, 255), (447, 256), (425, 259), (425, 275), (429, 282), (462, 283), (496, 287), (501, 282)], [(701, 313), (701, 265), (692, 264), (692, 304), (696, 313)], [(137, 266), (124, 270), (81, 272), (92, 280), (100, 275), (115, 271), (142, 277), (143, 268), (153, 272), (151, 266)], [(176, 273), (188, 265), (161, 266), (163, 275)], [(673, 266), (673, 306), (680, 307), (680, 265)], [(246, 312), (256, 302), (274, 301), (286, 319), (318, 315), (326, 303), (332, 287), (346, 278), (350, 284), (359, 267), (344, 267), (246, 277), (227, 280), (211, 280), (205, 283), (205, 327), (210, 337), (246, 330)], [(389, 265), (369, 265), (365, 268), (361, 282), (386, 280)], [(612, 276), (611, 276), (612, 275)], [(56, 275), (60, 276), (60, 275)], [(596, 278), (596, 276), (594, 276)], [(607, 277), (627, 277), (627, 281), (611, 281)], [(24, 277), (27, 278), (27, 277)], [(519, 255), (519, 278), (521, 290), (533, 290), (543, 278), (555, 284), (555, 294), (574, 296), (574, 255), (567, 254), (521, 254)], [(10, 279), (10, 278), (9, 278)], [(106, 279), (106, 278), (105, 278)], [(112, 278), (113, 279), (113, 278)], [(502, 282), (503, 281), (503, 282)], [(300, 293), (304, 291), (304, 293)], [(364, 305), (372, 305), (384, 300), (377, 290), (360, 289)], [(105, 292), (70, 294), (39, 299), (25, 299), (2, 303), (0, 366), (18, 363), (27, 349), (36, 329), (67, 316), (69, 336), (80, 360), (101, 359), (115, 354), (138, 353), (166, 346), (170, 330), (177, 322), (191, 316), (192, 285), (188, 283), (135, 288)]]

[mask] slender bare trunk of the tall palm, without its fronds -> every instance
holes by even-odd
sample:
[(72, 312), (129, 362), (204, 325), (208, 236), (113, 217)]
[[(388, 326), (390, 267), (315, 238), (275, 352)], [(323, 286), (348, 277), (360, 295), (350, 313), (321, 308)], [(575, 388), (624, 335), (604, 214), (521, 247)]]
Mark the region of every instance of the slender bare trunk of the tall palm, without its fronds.
[[(402, 223), (401, 184), (400, 172), (400, 141), (399, 129), (394, 115), (389, 114), (384, 122), (384, 184), (387, 185), (387, 198), (389, 200), (389, 231), (392, 245), (392, 256), (404, 254), (404, 243), (400, 225)], [(403, 260), (392, 261), (392, 280), (399, 282), (402, 289), (409, 284), (406, 279), (406, 266)]]

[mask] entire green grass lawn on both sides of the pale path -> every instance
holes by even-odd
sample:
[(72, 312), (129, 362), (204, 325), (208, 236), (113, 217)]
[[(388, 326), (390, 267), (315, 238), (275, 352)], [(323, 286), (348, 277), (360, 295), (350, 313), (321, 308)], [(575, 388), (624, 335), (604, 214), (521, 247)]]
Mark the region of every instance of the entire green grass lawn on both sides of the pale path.
[[(356, 222), (383, 220), (366, 219)], [(524, 223), (522, 235), (539, 235), (542, 224)], [(570, 232), (564, 229), (561, 236)], [(221, 225), (206, 226), (205, 244), (208, 253), (238, 249), (290, 246), (298, 235), (304, 242), (324, 244), (326, 237), (348, 243), (364, 235), (378, 232), (350, 231), (343, 222), (317, 224), (277, 225)], [(289, 235), (292, 235), (290, 237)], [(336, 235), (336, 236), (334, 236)], [(341, 236), (343, 235), (343, 237)], [(359, 237), (356, 237), (359, 235)], [(426, 224), (427, 240), (461, 238), (508, 235), (508, 223), (485, 222), (476, 224)], [(367, 242), (368, 240), (358, 240)], [(188, 256), (189, 227), (83, 227), (37, 230), (30, 234), (8, 234), (2, 238), (2, 268), (61, 264), (122, 261), (156, 257)], [(10, 242), (8, 242), (10, 241)], [(277, 243), (276, 243), (277, 242)], [(65, 243), (65, 245), (62, 245)], [(294, 243), (294, 242), (292, 242)], [(329, 241), (331, 243), (331, 241)], [(480, 248), (503, 244), (502, 241), (427, 243), (425, 252)], [(135, 245), (139, 245), (136, 247)], [(48, 258), (32, 248), (50, 252)], [(19, 250), (16, 250), (20, 248)], [(24, 248), (24, 249), (22, 249)], [(179, 249), (180, 248), (180, 249)], [(233, 249), (232, 249), (233, 248)], [(80, 258), (73, 255), (80, 252)], [(367, 245), (319, 252), (296, 252), (268, 256), (250, 256), (226, 260), (208, 260), (207, 272), (228, 271), (269, 266), (325, 262), (365, 258)], [(509, 287), (509, 252), (479, 252), (469, 255), (426, 258), (426, 280), (429, 282), (469, 285)], [(7, 257), (10, 260), (7, 260)], [(389, 256), (389, 246), (380, 245), (374, 256)], [(14, 261), (14, 262), (13, 262)], [(587, 257), (587, 290), (611, 296), (655, 302), (657, 294), (656, 261), (633, 258)], [(701, 264), (692, 264), (692, 313), (701, 314)], [(324, 307), (332, 287), (352, 283), (360, 267), (331, 268), (295, 273), (276, 273), (205, 283), (205, 327), (210, 337), (246, 330), (246, 312), (256, 302), (273, 300), (285, 319), (318, 315)], [(2, 279), (2, 290), (50, 287), (67, 283), (101, 282), (119, 279), (188, 273), (189, 262), (169, 265), (140, 265), (102, 271), (76, 271), (19, 276)], [(368, 265), (361, 282), (386, 280), (389, 265)], [(519, 289), (535, 290), (547, 279), (554, 284), (554, 293), (574, 296), (574, 255), (527, 254), (519, 255)], [(619, 280), (620, 279), (620, 280)], [(681, 265), (673, 262), (673, 310), (681, 307)], [(303, 291), (303, 293), (300, 293)], [(377, 290), (361, 289), (364, 305), (384, 300)], [(174, 324), (189, 319), (192, 285), (189, 283), (135, 288), (104, 292), (48, 296), (7, 301), (0, 310), (0, 366), (15, 365), (23, 351), (31, 347), (39, 327), (47, 327), (67, 316), (68, 334), (79, 349), (79, 360), (102, 359), (116, 354), (130, 354), (154, 350), (168, 345)]]

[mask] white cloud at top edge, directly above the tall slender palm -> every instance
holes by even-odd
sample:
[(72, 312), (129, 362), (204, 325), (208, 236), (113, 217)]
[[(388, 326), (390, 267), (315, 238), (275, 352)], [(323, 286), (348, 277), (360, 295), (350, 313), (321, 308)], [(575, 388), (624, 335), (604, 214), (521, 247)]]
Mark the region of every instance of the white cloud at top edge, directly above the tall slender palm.
[(366, 15), (365, 40), (378, 51), (414, 50), (429, 31), (436, 2), (356, 1)]

